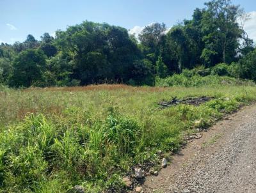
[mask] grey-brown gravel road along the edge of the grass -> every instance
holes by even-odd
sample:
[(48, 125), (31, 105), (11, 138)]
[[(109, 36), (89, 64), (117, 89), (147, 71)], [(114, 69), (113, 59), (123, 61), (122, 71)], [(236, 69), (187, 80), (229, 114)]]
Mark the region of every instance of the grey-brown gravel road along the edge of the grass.
[(256, 105), (216, 123), (188, 144), (144, 192), (256, 192)]

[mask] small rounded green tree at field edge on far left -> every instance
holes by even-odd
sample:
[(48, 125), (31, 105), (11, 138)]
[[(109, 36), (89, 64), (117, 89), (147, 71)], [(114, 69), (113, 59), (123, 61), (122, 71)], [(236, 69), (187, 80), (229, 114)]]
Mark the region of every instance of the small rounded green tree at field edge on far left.
[(24, 50), (13, 62), (12, 85), (16, 87), (32, 86), (36, 82), (42, 81), (45, 70), (46, 61), (42, 50)]

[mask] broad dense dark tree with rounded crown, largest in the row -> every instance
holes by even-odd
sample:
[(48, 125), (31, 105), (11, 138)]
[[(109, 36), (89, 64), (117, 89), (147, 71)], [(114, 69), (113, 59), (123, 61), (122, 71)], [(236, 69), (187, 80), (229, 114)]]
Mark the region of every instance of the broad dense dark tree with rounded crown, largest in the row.
[(74, 79), (81, 84), (102, 81), (127, 82), (140, 50), (127, 29), (85, 21), (57, 31), (56, 47), (74, 61)]

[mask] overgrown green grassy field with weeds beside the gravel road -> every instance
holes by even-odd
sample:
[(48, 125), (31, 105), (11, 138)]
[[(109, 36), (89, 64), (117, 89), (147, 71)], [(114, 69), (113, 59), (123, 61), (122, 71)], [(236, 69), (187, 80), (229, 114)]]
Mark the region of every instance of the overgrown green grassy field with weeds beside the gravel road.
[[(168, 156), (196, 127), (256, 100), (255, 86), (231, 85), (2, 90), (0, 192), (67, 192), (74, 185), (122, 192), (132, 166), (158, 167), (159, 150)], [(173, 96), (215, 99), (197, 107), (157, 105)]]

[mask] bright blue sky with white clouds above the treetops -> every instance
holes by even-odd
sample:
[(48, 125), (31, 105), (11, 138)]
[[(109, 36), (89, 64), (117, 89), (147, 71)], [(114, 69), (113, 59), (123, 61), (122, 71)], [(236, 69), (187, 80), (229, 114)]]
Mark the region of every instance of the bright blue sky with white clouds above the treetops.
[[(204, 8), (207, 0), (0, 0), (0, 42), (23, 42), (31, 34), (40, 40), (47, 32), (80, 24), (83, 20), (107, 22), (122, 26), (130, 33), (140, 33), (152, 22), (171, 27), (183, 19), (191, 19), (195, 8)], [(233, 0), (251, 20), (245, 25), (256, 41), (255, 0)]]

